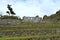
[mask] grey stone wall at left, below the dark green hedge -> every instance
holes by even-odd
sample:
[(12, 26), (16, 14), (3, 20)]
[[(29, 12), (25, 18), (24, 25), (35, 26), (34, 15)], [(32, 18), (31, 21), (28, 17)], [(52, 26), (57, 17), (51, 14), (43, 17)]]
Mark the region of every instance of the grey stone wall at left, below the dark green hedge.
[(15, 25), (20, 22), (21, 21), (17, 19), (0, 19), (0, 25)]

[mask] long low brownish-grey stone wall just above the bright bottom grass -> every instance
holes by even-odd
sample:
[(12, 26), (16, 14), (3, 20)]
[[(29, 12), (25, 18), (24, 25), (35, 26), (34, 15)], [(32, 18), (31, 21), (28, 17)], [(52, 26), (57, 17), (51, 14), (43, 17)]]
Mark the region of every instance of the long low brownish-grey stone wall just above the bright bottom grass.
[[(59, 32), (58, 32), (59, 31)], [(49, 34), (60, 34), (60, 30), (15, 30), (0, 32), (0, 36), (31, 36), (31, 35), (49, 35)], [(3, 36), (4, 35), (4, 36)]]

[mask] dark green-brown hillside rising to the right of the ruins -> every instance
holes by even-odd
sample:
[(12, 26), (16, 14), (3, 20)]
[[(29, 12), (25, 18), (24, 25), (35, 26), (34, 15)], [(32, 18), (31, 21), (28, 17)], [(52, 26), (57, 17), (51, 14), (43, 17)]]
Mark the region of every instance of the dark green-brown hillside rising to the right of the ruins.
[(47, 15), (45, 15), (44, 17), (43, 17), (43, 19), (44, 20), (55, 20), (55, 21), (59, 21), (60, 20), (60, 10), (59, 11), (57, 11), (55, 14), (52, 14), (52, 15), (50, 15), (50, 16), (47, 16)]

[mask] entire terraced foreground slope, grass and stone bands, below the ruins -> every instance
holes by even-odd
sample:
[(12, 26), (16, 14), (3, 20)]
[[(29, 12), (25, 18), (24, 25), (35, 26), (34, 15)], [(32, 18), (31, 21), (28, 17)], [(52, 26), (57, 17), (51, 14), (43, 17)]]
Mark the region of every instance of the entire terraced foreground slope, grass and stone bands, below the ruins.
[(20, 23), (16, 26), (0, 26), (0, 40), (55, 40), (59, 38), (60, 22)]

